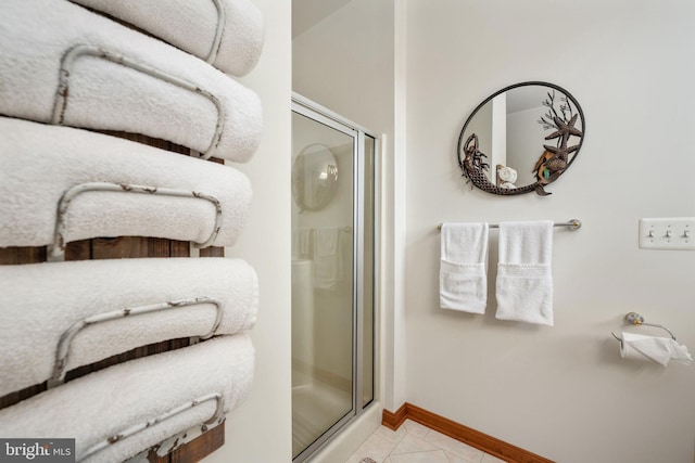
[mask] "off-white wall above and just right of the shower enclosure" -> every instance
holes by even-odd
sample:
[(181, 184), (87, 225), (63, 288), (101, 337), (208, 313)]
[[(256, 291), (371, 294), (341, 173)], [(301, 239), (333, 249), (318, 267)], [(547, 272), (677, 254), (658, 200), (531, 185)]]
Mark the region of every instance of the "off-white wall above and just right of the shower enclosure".
[[(404, 3), (352, 0), (292, 42), (292, 89), (381, 136), (381, 332), (380, 402), (395, 410), (405, 401), (404, 90), (396, 53)], [(401, 20), (403, 16), (403, 20)], [(396, 77), (399, 76), (399, 77)]]

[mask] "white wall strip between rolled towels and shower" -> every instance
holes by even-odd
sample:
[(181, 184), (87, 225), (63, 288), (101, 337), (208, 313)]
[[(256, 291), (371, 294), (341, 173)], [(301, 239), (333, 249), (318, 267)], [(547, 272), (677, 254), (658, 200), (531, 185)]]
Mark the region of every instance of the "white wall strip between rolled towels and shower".
[(241, 82), (263, 101), (263, 138), (251, 162), (233, 165), (251, 179), (254, 200), (241, 240), (226, 255), (247, 259), (258, 274), (258, 319), (251, 332), (256, 369), (249, 399), (227, 417), (225, 446), (206, 458), (206, 463), (292, 460), (291, 2), (253, 1), (264, 14), (265, 43), (257, 66)]

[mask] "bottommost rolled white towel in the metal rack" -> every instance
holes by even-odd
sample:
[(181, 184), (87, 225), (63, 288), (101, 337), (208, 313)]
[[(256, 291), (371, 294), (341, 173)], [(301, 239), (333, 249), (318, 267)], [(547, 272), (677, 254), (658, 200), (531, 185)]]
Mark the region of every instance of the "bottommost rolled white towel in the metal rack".
[[(0, 436), (75, 438), (77, 461), (121, 462), (177, 433), (200, 428), (215, 416), (217, 401), (201, 401), (116, 438), (121, 433), (211, 394), (220, 395), (222, 411), (227, 413), (245, 400), (253, 369), (251, 339), (220, 336), (91, 373), (0, 410)], [(207, 427), (223, 420), (215, 417)], [(110, 438), (113, 443), (88, 455)]]

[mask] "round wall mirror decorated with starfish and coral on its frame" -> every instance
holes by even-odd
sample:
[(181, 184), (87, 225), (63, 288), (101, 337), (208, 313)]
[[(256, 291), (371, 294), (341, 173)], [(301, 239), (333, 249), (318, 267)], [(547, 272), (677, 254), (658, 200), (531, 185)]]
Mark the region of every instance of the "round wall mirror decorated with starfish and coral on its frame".
[(579, 154), (584, 115), (574, 98), (547, 82), (504, 88), (466, 120), (458, 138), (458, 165), (473, 187), (511, 195), (551, 193)]

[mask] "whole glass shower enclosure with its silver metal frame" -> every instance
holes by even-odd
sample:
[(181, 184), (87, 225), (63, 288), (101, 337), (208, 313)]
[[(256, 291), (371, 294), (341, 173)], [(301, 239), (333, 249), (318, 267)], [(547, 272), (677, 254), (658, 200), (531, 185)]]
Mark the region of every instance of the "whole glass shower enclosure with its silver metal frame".
[(375, 398), (376, 137), (292, 99), (292, 459)]

